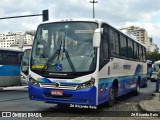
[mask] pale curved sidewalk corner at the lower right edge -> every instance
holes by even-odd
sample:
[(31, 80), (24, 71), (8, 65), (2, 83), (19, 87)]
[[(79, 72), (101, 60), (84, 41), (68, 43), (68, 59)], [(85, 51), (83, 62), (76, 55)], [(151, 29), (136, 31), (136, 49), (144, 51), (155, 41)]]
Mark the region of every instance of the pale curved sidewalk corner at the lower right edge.
[(159, 112), (160, 113), (160, 93), (153, 93), (153, 98), (151, 100), (142, 100), (139, 102), (139, 107), (142, 111), (148, 112)]

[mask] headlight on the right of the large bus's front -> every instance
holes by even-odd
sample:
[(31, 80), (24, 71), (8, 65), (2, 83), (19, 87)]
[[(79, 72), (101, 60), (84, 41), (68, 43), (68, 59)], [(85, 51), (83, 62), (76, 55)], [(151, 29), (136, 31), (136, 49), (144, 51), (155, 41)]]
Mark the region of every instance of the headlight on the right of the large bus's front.
[(92, 77), (89, 81), (79, 84), (77, 89), (92, 87), (94, 86), (94, 83), (95, 83), (95, 78)]

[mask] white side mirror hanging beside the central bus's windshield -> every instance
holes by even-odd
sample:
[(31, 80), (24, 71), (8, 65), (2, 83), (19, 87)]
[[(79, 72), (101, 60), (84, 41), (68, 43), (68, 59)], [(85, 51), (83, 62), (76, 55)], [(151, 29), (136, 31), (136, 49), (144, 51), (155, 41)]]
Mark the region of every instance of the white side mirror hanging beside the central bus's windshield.
[(99, 48), (101, 43), (101, 34), (103, 34), (103, 28), (98, 28), (93, 34), (93, 47)]

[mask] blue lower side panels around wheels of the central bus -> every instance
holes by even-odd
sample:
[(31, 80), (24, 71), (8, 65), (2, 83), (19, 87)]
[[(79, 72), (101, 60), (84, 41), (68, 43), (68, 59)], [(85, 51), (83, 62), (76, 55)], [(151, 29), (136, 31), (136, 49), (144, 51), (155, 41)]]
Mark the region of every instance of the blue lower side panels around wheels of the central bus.
[[(140, 86), (143, 86), (147, 79), (146, 79), (146, 75), (140, 75), (141, 76), (141, 83)], [(124, 95), (128, 92), (133, 91), (136, 86), (136, 82), (138, 77), (135, 77), (134, 75), (131, 76), (121, 76), (121, 77), (111, 77), (111, 78), (101, 78), (99, 79), (99, 83), (98, 83), (98, 104), (104, 103), (106, 101), (109, 100), (109, 91), (112, 87), (113, 84), (113, 80), (117, 79), (118, 80), (118, 95), (117, 96), (121, 96)]]

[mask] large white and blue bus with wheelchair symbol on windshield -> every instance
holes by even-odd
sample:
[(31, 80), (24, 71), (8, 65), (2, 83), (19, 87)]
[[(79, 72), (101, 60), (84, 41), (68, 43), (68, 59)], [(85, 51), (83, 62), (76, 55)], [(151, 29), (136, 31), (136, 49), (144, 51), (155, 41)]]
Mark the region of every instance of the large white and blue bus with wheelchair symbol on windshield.
[(146, 48), (101, 20), (66, 19), (38, 26), (29, 98), (56, 104), (113, 105), (146, 84)]

